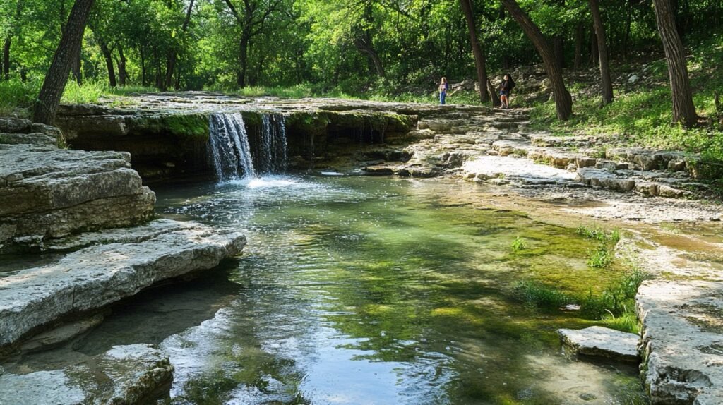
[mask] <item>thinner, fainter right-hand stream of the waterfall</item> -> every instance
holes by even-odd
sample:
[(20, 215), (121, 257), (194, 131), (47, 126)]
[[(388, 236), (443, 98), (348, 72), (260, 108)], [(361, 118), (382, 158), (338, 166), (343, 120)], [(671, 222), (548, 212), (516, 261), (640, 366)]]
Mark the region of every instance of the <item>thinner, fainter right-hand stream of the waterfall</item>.
[(286, 124), (281, 114), (262, 114), (258, 144), (254, 148), (259, 173), (286, 170)]

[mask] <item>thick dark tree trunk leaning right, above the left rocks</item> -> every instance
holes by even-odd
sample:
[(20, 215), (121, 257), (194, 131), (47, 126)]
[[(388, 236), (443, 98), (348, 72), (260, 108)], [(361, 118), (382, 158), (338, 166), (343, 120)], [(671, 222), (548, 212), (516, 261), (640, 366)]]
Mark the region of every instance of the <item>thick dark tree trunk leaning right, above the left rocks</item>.
[(33, 121), (52, 125), (55, 114), (63, 97), (65, 84), (72, 65), (72, 58), (80, 53), (85, 22), (94, 0), (76, 0), (70, 11), (65, 32), (60, 39), (58, 49), (55, 51), (53, 61), (48, 69), (43, 87), (40, 88), (38, 100), (35, 102)]

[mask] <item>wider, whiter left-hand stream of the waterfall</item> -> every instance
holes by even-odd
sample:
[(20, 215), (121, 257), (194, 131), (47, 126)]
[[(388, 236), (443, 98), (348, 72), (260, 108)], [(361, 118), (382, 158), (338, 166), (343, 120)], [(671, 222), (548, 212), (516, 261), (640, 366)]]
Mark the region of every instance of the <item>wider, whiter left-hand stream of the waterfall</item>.
[(218, 180), (256, 175), (249, 137), (240, 113), (211, 115), (209, 146), (210, 161)]

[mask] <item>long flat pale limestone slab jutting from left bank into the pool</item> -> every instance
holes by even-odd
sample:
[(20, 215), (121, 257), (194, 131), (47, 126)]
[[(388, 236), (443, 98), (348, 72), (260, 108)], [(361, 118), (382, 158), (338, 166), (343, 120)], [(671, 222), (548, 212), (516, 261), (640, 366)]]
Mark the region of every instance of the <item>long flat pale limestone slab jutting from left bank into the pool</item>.
[[(132, 232), (129, 230), (127, 232)], [(244, 248), (238, 232), (203, 225), (141, 243), (93, 245), (0, 278), (0, 347), (67, 315), (102, 308), (163, 279), (210, 269)]]

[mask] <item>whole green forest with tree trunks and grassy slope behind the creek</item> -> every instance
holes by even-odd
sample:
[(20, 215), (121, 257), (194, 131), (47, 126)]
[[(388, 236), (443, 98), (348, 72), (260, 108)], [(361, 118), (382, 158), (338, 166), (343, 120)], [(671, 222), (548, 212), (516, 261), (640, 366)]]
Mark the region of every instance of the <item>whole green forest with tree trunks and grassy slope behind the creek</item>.
[[(3, 0), (0, 116), (164, 90), (434, 103), (442, 76), (537, 65), (541, 129), (702, 153), (723, 178), (722, 18), (722, 0)], [(452, 102), (494, 105), (487, 87)]]

